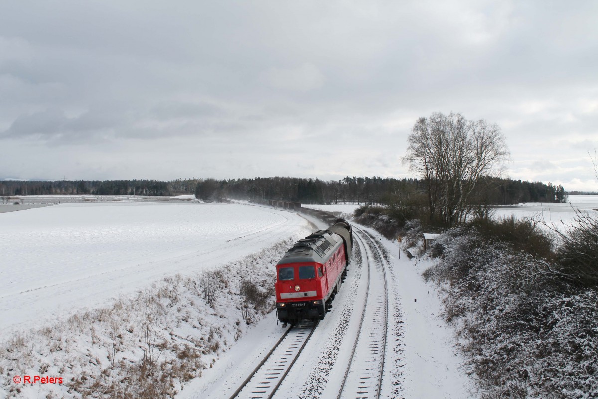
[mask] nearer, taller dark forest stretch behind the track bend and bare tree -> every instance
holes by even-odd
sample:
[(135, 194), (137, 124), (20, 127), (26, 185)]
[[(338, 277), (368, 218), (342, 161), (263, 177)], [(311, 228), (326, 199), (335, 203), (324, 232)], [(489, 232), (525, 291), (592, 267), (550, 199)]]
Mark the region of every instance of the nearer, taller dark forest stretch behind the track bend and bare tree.
[[(255, 177), (205, 179), (199, 181), (196, 197), (208, 201), (225, 198), (281, 200), (304, 204), (365, 203), (392, 205), (409, 198), (422, 202), (426, 181), (416, 178), (350, 177), (324, 181), (311, 178)], [(566, 202), (562, 185), (484, 176), (472, 198), (485, 205), (515, 205), (521, 202)]]

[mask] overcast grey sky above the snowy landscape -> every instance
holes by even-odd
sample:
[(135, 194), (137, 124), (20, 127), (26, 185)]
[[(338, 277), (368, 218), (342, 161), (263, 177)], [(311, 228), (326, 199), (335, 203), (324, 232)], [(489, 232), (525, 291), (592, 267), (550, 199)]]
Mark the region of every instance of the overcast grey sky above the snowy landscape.
[(435, 111), (598, 190), (598, 2), (0, 2), (0, 178), (401, 178)]

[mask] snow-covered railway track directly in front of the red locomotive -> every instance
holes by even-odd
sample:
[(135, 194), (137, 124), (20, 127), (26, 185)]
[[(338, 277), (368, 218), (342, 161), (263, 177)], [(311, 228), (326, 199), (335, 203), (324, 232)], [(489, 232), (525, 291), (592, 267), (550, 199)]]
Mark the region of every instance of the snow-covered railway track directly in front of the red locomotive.
[(230, 399), (273, 397), (316, 327), (318, 322), (291, 325)]

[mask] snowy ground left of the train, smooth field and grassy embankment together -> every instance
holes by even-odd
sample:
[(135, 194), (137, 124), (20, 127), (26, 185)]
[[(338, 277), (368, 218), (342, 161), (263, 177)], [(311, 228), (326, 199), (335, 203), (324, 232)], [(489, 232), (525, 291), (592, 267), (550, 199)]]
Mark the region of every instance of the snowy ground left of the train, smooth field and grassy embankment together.
[[(0, 399), (134, 397), (159, 385), (157, 372), (161, 389), (184, 388), (248, 329), (240, 279), (269, 287), (273, 263), (312, 231), (296, 214), (243, 205), (88, 202), (0, 214), (10, 256), (0, 258)], [(203, 269), (227, 277), (213, 306), (199, 289)], [(164, 371), (132, 383), (144, 342)], [(65, 383), (13, 381), (40, 374)]]

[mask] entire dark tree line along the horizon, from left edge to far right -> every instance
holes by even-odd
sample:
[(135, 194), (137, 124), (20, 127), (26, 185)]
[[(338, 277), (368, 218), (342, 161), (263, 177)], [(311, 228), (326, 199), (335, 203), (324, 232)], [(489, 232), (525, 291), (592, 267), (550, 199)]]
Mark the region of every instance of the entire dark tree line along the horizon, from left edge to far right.
[[(476, 200), (491, 205), (520, 202), (566, 202), (561, 185), (506, 178), (486, 178)], [(245, 200), (275, 199), (305, 204), (365, 203), (391, 205), (402, 197), (419, 201), (425, 196), (426, 182), (416, 178), (346, 176), (340, 180), (292, 177), (239, 179), (158, 180), (59, 180), (0, 181), (2, 196), (22, 195), (176, 195), (196, 194), (203, 200), (227, 197)]]

